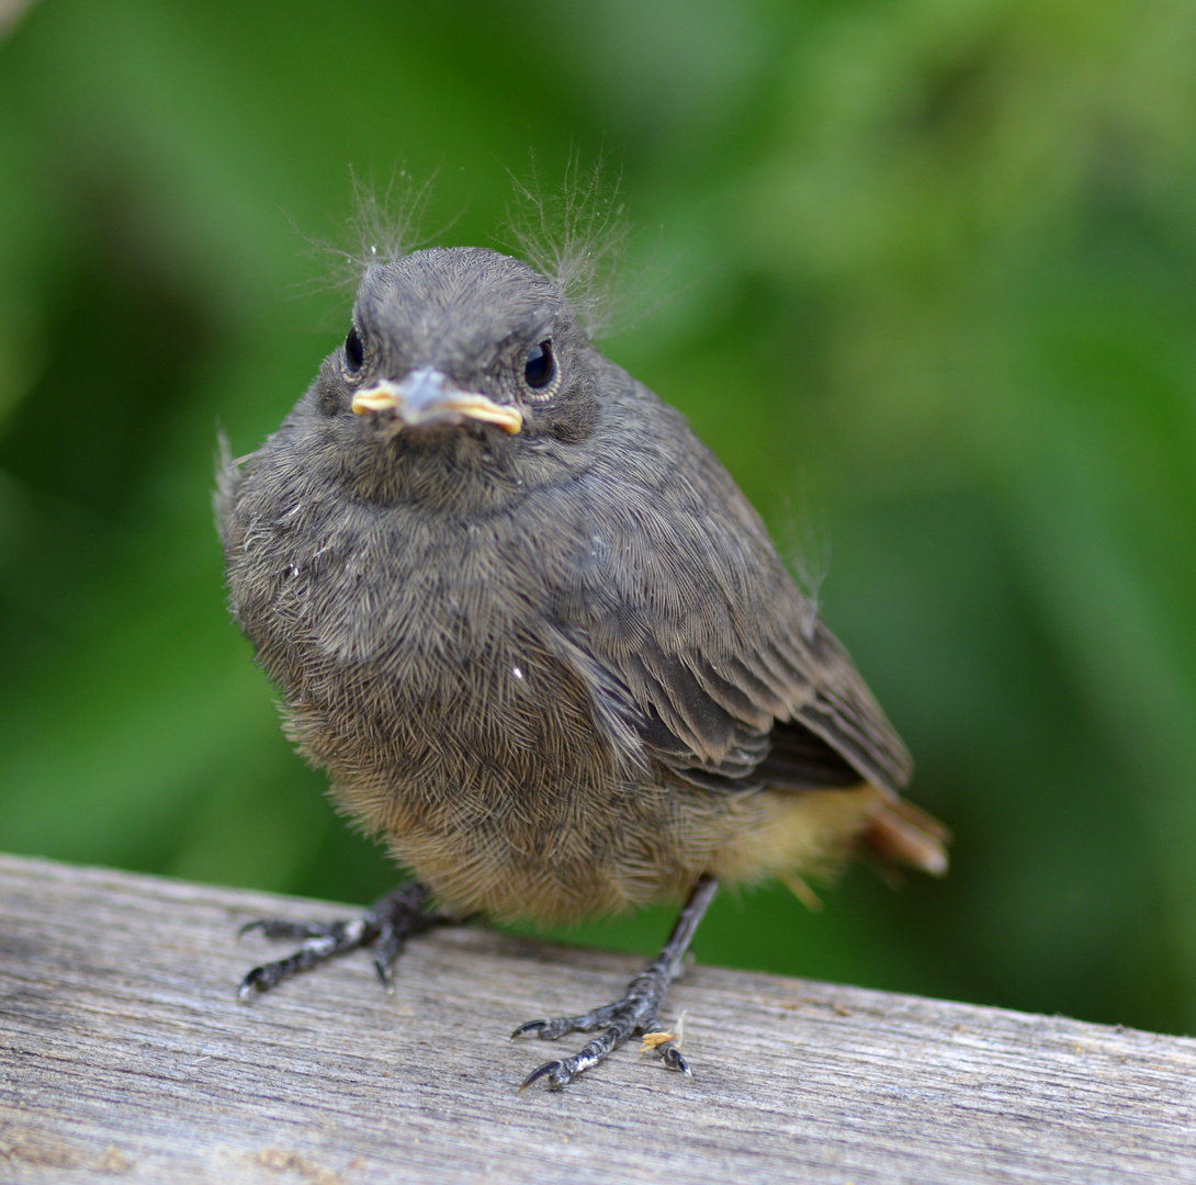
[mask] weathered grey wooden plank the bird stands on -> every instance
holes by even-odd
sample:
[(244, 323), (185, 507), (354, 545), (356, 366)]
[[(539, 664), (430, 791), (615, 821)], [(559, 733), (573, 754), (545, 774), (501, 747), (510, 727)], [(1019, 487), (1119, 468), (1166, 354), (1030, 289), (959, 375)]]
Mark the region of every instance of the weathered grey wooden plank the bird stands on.
[(356, 955), (243, 1006), (263, 914), (343, 911), (0, 857), (0, 1180), (1196, 1181), (1194, 1040), (698, 966), (692, 1080), (519, 1097), (507, 1033), (634, 960), (445, 930), (392, 996)]

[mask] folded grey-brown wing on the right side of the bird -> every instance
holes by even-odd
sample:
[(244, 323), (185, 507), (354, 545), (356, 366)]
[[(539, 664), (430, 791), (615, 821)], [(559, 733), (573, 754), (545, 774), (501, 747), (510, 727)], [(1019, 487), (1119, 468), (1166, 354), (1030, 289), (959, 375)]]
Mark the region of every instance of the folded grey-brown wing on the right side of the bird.
[(641, 744), (678, 772), (782, 788), (862, 776), (899, 790), (904, 745), (759, 517), (690, 441), (663, 470), (657, 458), (628, 478), (624, 453), (610, 481), (593, 475), (582, 554), (554, 593), (566, 645), (599, 684), (626, 689)]

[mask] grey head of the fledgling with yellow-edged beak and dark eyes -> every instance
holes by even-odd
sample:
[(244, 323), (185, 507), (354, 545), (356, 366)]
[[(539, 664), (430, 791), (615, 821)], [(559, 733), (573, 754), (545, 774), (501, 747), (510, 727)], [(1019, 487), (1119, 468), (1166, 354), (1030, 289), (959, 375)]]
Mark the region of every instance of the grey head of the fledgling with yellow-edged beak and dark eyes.
[(420, 475), (468, 483), (471, 470), (535, 481), (593, 428), (594, 356), (561, 291), (527, 264), (417, 251), (366, 270), (344, 344), (297, 413), (364, 493), (402, 496)]

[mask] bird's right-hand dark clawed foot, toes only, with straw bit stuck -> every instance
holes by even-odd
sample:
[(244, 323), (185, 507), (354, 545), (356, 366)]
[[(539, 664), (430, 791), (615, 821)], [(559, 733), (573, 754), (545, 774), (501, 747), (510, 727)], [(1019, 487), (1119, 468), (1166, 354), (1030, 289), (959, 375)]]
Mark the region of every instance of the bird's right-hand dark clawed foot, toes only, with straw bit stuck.
[(566, 1033), (592, 1033), (597, 1030), (600, 1032), (570, 1057), (537, 1067), (524, 1079), (519, 1093), (521, 1094), (538, 1079), (547, 1079), (549, 1088), (559, 1091), (584, 1070), (597, 1065), (635, 1033), (645, 1036), (645, 1047), (654, 1050), (666, 1069), (681, 1070), (688, 1077), (689, 1063), (677, 1047), (678, 1038), (657, 1031), (659, 1027), (657, 1018), (675, 976), (676, 966), (658, 959), (628, 984), (627, 995), (622, 1000), (603, 1004), (581, 1016), (530, 1020), (526, 1025), (520, 1025), (511, 1034), (512, 1038), (535, 1033), (541, 1040), (555, 1042)]

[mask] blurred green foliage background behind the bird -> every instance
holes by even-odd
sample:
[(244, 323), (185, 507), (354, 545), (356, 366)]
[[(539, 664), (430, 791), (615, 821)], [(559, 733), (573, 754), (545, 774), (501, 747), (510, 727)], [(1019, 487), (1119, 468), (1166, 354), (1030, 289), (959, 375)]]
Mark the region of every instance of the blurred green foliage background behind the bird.
[(1196, 1031), (1194, 127), (1190, 0), (35, 4), (0, 43), (0, 848), (393, 881), (228, 623), (216, 426), (250, 451), (342, 340), (307, 240), (352, 242), (350, 167), (435, 173), (425, 230), (494, 245), (508, 169), (605, 153), (665, 298), (608, 353), (829, 552), (956, 832), (944, 882), (724, 893), (698, 957)]

